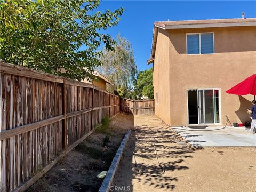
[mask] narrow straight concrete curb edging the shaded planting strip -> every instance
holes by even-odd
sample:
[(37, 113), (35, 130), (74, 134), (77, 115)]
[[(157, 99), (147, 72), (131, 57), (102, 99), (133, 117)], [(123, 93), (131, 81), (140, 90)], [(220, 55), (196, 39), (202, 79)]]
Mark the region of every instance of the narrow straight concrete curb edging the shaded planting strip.
[(126, 132), (126, 134), (124, 135), (124, 139), (121, 142), (121, 144), (116, 152), (115, 157), (113, 158), (113, 161), (108, 169), (108, 173), (107, 173), (105, 179), (102, 182), (99, 192), (107, 192), (109, 190), (109, 187), (111, 186), (112, 181), (115, 177), (115, 173), (116, 173), (117, 167), (119, 165), (119, 162), (121, 160), (121, 156), (124, 151), (125, 145), (129, 140), (130, 134), (131, 134), (131, 130), (128, 130)]

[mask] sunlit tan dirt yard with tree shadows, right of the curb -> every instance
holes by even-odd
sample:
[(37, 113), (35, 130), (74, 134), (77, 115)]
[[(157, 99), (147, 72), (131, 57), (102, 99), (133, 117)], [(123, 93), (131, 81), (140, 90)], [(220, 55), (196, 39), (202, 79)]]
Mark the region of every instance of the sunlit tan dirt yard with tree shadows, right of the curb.
[(255, 191), (255, 147), (194, 148), (155, 116), (133, 118), (111, 191)]

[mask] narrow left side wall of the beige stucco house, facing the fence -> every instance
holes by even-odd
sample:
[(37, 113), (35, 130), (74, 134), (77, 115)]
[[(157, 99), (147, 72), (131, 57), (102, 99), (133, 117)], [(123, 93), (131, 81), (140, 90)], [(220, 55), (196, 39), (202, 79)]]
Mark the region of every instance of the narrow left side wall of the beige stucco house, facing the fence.
[[(170, 63), (169, 63), (169, 44), (168, 33), (160, 29), (156, 43), (156, 54), (154, 62), (153, 78), (154, 81), (154, 98), (155, 98), (155, 114), (163, 119), (167, 124), (171, 124), (170, 116)], [(156, 101), (156, 93), (158, 93), (158, 103)]]

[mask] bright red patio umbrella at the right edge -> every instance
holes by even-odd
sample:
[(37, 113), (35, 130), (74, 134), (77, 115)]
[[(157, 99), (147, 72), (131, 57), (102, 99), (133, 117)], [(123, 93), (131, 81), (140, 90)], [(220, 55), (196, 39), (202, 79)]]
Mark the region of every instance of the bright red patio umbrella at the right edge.
[(246, 78), (241, 83), (238, 83), (237, 85), (235, 85), (234, 87), (232, 87), (231, 89), (226, 91), (226, 93), (236, 94), (236, 95), (251, 94), (251, 95), (254, 95), (254, 99), (255, 99), (255, 95), (256, 95), (256, 74)]

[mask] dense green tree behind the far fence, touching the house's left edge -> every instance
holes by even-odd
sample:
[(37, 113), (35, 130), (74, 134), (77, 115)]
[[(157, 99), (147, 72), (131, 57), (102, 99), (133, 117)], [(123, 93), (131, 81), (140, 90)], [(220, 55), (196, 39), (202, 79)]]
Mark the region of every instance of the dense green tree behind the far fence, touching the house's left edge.
[(145, 95), (149, 97), (149, 99), (154, 98), (153, 68), (139, 72), (137, 82), (135, 84), (135, 93), (139, 97)]

